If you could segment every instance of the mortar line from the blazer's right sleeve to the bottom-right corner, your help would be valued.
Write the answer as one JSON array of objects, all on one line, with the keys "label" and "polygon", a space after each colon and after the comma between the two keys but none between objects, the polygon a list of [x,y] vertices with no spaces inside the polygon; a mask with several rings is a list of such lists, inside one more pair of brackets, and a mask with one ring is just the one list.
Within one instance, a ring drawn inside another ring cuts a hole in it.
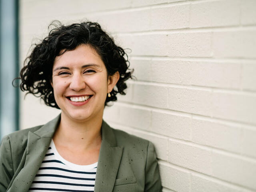
[{"label": "mortar line from the blazer's right sleeve to the bottom-right corner", "polygon": [[176,165],[176,164],[172,164],[170,162],[165,162],[163,160],[158,160],[158,163],[162,164],[164,166],[168,166],[170,168],[178,169],[180,171],[190,172],[190,173],[192,173],[196,176],[202,177],[202,178],[207,179],[207,180],[211,180],[213,182],[216,182],[218,184],[222,184],[224,186],[229,186],[231,188],[236,188],[238,190],[243,190],[243,191],[244,191],[244,189],[246,189],[246,190],[248,190],[247,192],[255,192],[253,189],[250,189],[246,186],[242,186],[242,185],[235,184],[235,183],[232,183],[232,182],[229,182],[229,181],[226,181],[226,180],[222,180],[220,178],[210,176],[210,175],[207,175],[207,174],[204,174],[204,173],[200,173],[200,172],[197,172],[197,171],[192,170],[192,169],[188,169],[188,168]]}]

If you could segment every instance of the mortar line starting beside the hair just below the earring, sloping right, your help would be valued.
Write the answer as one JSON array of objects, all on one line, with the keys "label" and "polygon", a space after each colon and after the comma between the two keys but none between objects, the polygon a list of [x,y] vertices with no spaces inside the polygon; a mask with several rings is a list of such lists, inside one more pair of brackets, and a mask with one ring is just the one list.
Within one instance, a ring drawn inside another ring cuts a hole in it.
[{"label": "mortar line starting beside the hair just below the earring, sloping right", "polygon": [[[174,116],[182,116],[182,117],[188,117],[188,118],[193,118],[196,120],[205,120],[208,122],[216,122],[219,124],[223,124],[226,126],[235,126],[235,127],[242,127],[246,128],[248,130],[256,130],[256,125],[244,123],[244,122],[236,122],[234,120],[224,120],[220,118],[215,118],[215,117],[210,117],[210,116],[203,116],[200,114],[193,114],[193,113],[188,113],[188,112],[182,112],[182,111],[176,111],[176,110],[170,110],[170,109],[163,109],[163,108],[157,108],[157,107],[152,107],[152,106],[146,106],[142,104],[137,104],[137,103],[130,103],[130,102],[124,102],[124,101],[118,101],[116,103],[118,106],[132,106],[134,108],[140,107],[140,109],[145,108],[148,110],[151,110],[152,112],[161,112],[161,113],[166,113]],[[120,105],[122,104],[122,105]],[[190,117],[191,116],[191,117]]]}]

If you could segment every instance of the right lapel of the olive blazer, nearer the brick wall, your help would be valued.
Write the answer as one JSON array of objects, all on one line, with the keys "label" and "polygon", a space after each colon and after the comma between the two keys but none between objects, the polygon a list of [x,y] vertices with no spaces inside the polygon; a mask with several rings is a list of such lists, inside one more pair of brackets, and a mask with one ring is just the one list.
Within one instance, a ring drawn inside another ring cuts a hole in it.
[{"label": "right lapel of the olive blazer, nearer the brick wall", "polygon": [[102,122],[102,144],[96,172],[94,192],[112,192],[123,147],[116,145],[112,128]]}]

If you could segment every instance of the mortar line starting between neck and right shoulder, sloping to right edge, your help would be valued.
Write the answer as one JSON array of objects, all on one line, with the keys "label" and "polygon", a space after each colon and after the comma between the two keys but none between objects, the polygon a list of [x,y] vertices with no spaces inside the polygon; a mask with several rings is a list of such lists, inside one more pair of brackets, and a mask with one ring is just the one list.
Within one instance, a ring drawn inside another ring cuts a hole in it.
[{"label": "mortar line starting between neck and right shoulder, sloping to right edge", "polygon": [[239,153],[236,153],[236,152],[230,152],[230,151],[227,151],[227,150],[224,150],[224,149],[220,149],[220,148],[215,148],[213,146],[207,146],[207,145],[203,145],[203,144],[198,144],[198,143],[195,143],[195,142],[192,142],[192,141],[187,141],[187,140],[182,140],[182,139],[178,139],[178,138],[174,138],[174,137],[170,137],[170,136],[164,136],[162,134],[157,134],[155,132],[152,132],[151,130],[141,130],[141,129],[138,129],[138,128],[134,128],[132,126],[125,126],[125,125],[122,125],[118,122],[113,122],[111,120],[109,120],[114,126],[116,126],[116,128],[124,128],[126,130],[131,130],[131,131],[135,131],[137,133],[141,133],[141,134],[148,134],[150,136],[155,136],[155,137],[158,137],[161,136],[165,139],[168,139],[169,141],[174,141],[174,142],[179,142],[181,144],[186,144],[186,145],[189,145],[189,146],[192,146],[192,147],[196,147],[196,148],[200,148],[200,149],[203,149],[203,150],[208,150],[208,151],[212,151],[212,152],[217,152],[219,154],[224,154],[228,157],[233,157],[233,158],[236,158],[236,159],[240,159],[240,160],[244,160],[246,162],[252,162],[252,163],[255,163],[256,164],[256,158],[254,157],[251,157],[251,156],[247,156],[245,154],[239,154]]}]

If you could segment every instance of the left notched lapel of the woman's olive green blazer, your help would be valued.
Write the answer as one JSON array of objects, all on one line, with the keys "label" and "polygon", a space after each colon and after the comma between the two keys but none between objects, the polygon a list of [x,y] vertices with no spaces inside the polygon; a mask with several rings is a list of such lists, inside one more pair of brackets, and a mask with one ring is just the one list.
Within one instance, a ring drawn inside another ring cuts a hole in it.
[{"label": "left notched lapel of the woman's olive green blazer", "polygon": [[60,115],[37,131],[28,132],[24,167],[17,174],[7,192],[28,191],[48,150],[59,120]]}]

